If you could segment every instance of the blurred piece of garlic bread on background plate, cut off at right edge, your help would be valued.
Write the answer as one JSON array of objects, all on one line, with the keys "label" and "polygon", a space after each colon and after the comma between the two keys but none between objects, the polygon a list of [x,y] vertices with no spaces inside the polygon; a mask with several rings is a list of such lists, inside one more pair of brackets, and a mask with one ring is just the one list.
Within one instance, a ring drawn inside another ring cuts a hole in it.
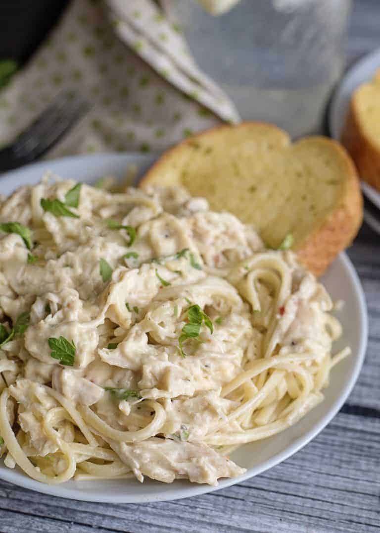
[{"label": "blurred piece of garlic bread on background plate, cut off at right edge", "polygon": [[380,191],[380,69],[354,91],[342,132],[359,176]]}]

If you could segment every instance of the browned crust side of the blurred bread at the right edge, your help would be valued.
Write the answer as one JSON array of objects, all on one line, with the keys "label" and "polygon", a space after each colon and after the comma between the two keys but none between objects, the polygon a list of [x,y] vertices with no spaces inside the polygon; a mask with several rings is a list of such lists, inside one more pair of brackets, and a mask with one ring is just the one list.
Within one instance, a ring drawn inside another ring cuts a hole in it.
[{"label": "browned crust side of the blurred bread at the right edge", "polygon": [[351,99],[341,141],[354,160],[361,179],[380,191],[380,150],[363,131],[355,95]]}]

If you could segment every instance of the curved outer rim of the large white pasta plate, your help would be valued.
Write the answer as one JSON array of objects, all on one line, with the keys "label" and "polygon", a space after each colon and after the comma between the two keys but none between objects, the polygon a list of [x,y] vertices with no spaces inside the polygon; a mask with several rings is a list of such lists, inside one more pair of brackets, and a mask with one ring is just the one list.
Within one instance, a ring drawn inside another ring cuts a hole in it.
[{"label": "curved outer rim of the large white pasta plate", "polygon": [[[380,52],[380,50],[379,50]],[[113,152],[104,152],[102,154],[90,154],[90,155],[79,155],[79,156],[68,156],[63,157],[59,159],[51,159],[51,160],[44,160],[42,162],[38,163],[31,163],[29,165],[25,165],[21,168],[14,169],[10,172],[6,172],[4,174],[0,175],[0,183],[1,181],[4,182],[4,180],[15,180],[18,175],[22,175],[23,173],[28,173],[30,171],[38,171],[39,169],[41,171],[45,171],[49,165],[70,165],[73,163],[80,164],[81,161],[84,163],[88,161],[89,159],[92,159],[95,161],[96,159],[102,160],[103,162],[106,160],[119,160],[120,163],[123,162],[126,165],[128,165],[129,159],[136,159],[141,160],[143,164],[152,164],[153,161],[156,159],[156,157],[159,156],[159,153],[154,154],[140,154],[138,152],[122,152],[119,154],[115,154]],[[41,174],[40,174],[41,175]],[[39,177],[40,177],[39,175]],[[18,187],[20,184],[15,184],[15,187]],[[91,492],[87,492],[86,489],[80,489],[80,499],[86,502],[97,502],[97,503],[149,503],[149,502],[163,502],[168,500],[176,500],[181,498],[188,498],[193,496],[199,496],[206,494],[208,492],[213,492],[215,490],[224,489],[227,487],[230,487],[234,484],[241,483],[242,481],[246,479],[250,479],[254,477],[255,475],[258,475],[266,470],[269,470],[271,467],[276,466],[277,464],[285,461],[288,457],[291,457],[293,454],[295,454],[297,451],[299,451],[301,448],[303,448],[305,445],[307,445],[313,438],[315,438],[318,433],[320,433],[326,425],[331,422],[331,420],[335,417],[335,415],[338,413],[338,411],[343,406],[344,402],[348,398],[349,394],[351,393],[354,384],[356,383],[361,367],[363,365],[365,354],[366,354],[366,348],[367,348],[367,340],[368,340],[368,314],[367,314],[367,304],[366,304],[366,298],[364,294],[364,290],[362,289],[361,282],[358,276],[358,273],[354,269],[354,266],[349,259],[348,255],[345,252],[341,252],[335,261],[339,261],[342,264],[342,268],[348,273],[352,287],[353,287],[353,293],[356,297],[356,300],[358,302],[358,317],[359,317],[359,324],[358,324],[358,331],[359,331],[359,346],[358,346],[358,352],[354,354],[355,356],[355,364],[351,373],[351,376],[349,378],[349,381],[346,383],[345,387],[343,388],[341,394],[339,397],[337,397],[327,413],[320,419],[320,421],[313,425],[313,427],[307,432],[301,435],[301,437],[298,437],[295,439],[290,445],[288,445],[284,450],[280,451],[276,455],[270,457],[266,461],[262,462],[261,464],[252,467],[250,469],[247,469],[247,471],[242,474],[241,476],[237,478],[228,478],[228,479],[222,479],[218,486],[209,486],[205,484],[189,484],[186,486],[184,490],[181,490],[181,488],[173,488],[172,491],[167,491],[161,493],[158,491],[157,496],[147,495],[147,496],[138,496],[134,497],[134,495],[131,494],[121,494],[115,496],[107,495],[106,494],[106,488],[104,489],[104,492],[102,494],[93,494]],[[16,474],[19,474],[19,472],[15,472],[11,469],[0,469],[0,479],[13,483],[16,486],[35,490],[36,492],[40,492],[42,494],[47,494],[50,496],[58,496],[62,498],[68,498],[68,499],[78,499],[78,490],[73,490],[71,488],[65,488],[64,484],[57,484],[57,485],[46,485],[44,483],[40,483],[39,481],[35,481],[31,478],[28,478],[26,474],[22,474],[21,479],[14,480],[14,477]],[[63,493],[63,494],[62,494]]]}]

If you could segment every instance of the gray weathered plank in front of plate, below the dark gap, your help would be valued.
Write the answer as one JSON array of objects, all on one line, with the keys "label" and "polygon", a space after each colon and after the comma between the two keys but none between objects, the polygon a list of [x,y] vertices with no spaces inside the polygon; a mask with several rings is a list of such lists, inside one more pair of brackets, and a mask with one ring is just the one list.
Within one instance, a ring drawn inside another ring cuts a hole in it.
[{"label": "gray weathered plank in front of plate, below the dark gap", "polygon": [[[9,483],[0,488],[0,524],[8,513],[62,523],[73,531],[360,532],[380,529],[380,419],[339,414],[307,447],[274,469],[228,489],[177,502],[112,505],[63,500]],[[282,525],[281,525],[282,524]],[[1,526],[0,526],[1,527]],[[282,527],[283,529],[280,529]],[[24,529],[22,529],[24,530]],[[38,529],[39,530],[39,529]],[[9,529],[13,532],[16,529]]]}]

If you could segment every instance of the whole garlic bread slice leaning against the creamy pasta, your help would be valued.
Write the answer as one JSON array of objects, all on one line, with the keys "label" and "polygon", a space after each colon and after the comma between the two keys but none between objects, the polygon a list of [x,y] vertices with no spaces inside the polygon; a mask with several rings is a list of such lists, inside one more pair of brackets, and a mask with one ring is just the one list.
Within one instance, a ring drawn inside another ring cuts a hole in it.
[{"label": "whole garlic bread slice leaning against the creamy pasta", "polygon": [[183,185],[214,211],[254,224],[265,243],[288,233],[299,260],[316,275],[356,236],[362,197],[344,148],[313,136],[292,144],[277,126],[245,122],[194,135],[168,150],[141,181]]}]

